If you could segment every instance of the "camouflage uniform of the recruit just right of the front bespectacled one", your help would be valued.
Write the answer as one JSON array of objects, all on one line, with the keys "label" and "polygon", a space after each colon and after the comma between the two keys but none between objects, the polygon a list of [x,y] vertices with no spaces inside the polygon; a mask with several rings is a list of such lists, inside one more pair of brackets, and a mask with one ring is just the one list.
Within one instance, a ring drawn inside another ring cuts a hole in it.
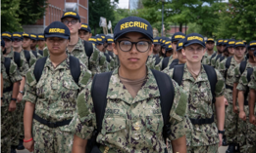
[{"label": "camouflage uniform of the recruit just right of the front bespectacled one", "polygon": [[[215,71],[217,74],[215,95],[216,97],[224,96],[224,78],[218,70]],[[172,78],[173,73],[174,68],[167,72]],[[210,82],[203,65],[200,74],[196,80],[194,80],[193,76],[188,72],[185,63],[180,87],[188,94],[188,118],[205,119],[212,117],[214,114],[214,104],[212,103],[213,96]],[[189,146],[212,145],[219,142],[218,128],[215,122],[212,124],[193,125],[193,131],[190,131],[190,133],[191,134],[186,134],[186,141]]]}]

